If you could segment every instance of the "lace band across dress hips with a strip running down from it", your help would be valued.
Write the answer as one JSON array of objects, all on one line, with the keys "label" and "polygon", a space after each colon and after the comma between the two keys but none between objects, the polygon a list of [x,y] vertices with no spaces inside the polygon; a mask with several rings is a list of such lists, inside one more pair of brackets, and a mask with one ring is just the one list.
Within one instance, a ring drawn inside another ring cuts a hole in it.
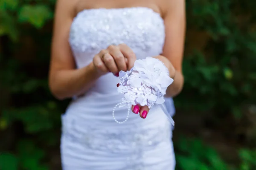
[{"label": "lace band across dress hips with a strip running down from it", "polygon": [[[62,134],[67,142],[79,143],[82,146],[81,150],[121,154],[126,157],[124,170],[144,170],[144,153],[157,148],[160,144],[169,144],[172,138],[167,122],[154,128],[141,128],[140,125],[134,125],[130,129],[93,126],[83,126],[81,129],[81,123],[76,119],[69,118],[67,122],[67,119],[62,118],[62,121]],[[73,150],[71,146],[65,149]]]}]

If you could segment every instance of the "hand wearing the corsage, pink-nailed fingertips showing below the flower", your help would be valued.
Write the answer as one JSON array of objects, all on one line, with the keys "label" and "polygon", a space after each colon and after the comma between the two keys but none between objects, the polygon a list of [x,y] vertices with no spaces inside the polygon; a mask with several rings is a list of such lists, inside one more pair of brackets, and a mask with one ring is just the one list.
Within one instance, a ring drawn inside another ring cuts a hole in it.
[{"label": "hand wearing the corsage, pink-nailed fingertips showing below the flower", "polygon": [[[174,79],[176,71],[175,71],[175,68],[173,67],[172,63],[169,61],[169,59],[167,59],[166,57],[163,57],[161,55],[156,56],[154,58],[159,59],[161,62],[163,62],[163,64],[169,70],[170,77],[172,79]],[[116,86],[119,87],[119,84],[117,84]],[[148,112],[150,109],[148,108],[148,106],[132,105],[131,110],[135,114],[140,113],[140,117],[145,119],[146,116],[148,115]]]}]

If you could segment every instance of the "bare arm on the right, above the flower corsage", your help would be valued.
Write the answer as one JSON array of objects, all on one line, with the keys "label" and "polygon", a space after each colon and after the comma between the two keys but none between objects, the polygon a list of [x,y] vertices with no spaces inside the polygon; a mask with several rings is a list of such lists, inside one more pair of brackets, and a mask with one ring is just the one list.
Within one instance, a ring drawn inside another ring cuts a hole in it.
[{"label": "bare arm on the right, above the flower corsage", "polygon": [[183,88],[182,61],[186,29],[185,0],[165,0],[166,14],[164,23],[166,27],[166,40],[163,47],[163,56],[160,59],[169,68],[174,82],[166,91],[166,96],[176,96]]}]

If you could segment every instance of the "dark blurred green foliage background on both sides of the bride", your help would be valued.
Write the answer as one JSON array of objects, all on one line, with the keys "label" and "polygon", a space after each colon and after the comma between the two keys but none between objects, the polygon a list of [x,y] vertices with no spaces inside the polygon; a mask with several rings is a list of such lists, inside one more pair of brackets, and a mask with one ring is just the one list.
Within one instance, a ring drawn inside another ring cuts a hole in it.
[{"label": "dark blurred green foliage background on both sides of the bride", "polygon": [[[0,0],[0,170],[59,170],[49,93],[55,0]],[[177,170],[256,170],[256,1],[187,0]]]}]

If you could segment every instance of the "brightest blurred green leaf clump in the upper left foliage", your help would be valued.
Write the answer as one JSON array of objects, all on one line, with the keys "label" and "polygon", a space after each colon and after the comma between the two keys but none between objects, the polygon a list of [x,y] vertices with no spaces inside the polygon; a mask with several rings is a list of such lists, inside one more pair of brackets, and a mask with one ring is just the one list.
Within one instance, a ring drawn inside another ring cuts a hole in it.
[{"label": "brightest blurred green leaf clump in the upper left foliage", "polygon": [[52,11],[44,5],[24,5],[20,8],[18,20],[28,22],[36,28],[42,28],[44,23],[52,19]]}]

